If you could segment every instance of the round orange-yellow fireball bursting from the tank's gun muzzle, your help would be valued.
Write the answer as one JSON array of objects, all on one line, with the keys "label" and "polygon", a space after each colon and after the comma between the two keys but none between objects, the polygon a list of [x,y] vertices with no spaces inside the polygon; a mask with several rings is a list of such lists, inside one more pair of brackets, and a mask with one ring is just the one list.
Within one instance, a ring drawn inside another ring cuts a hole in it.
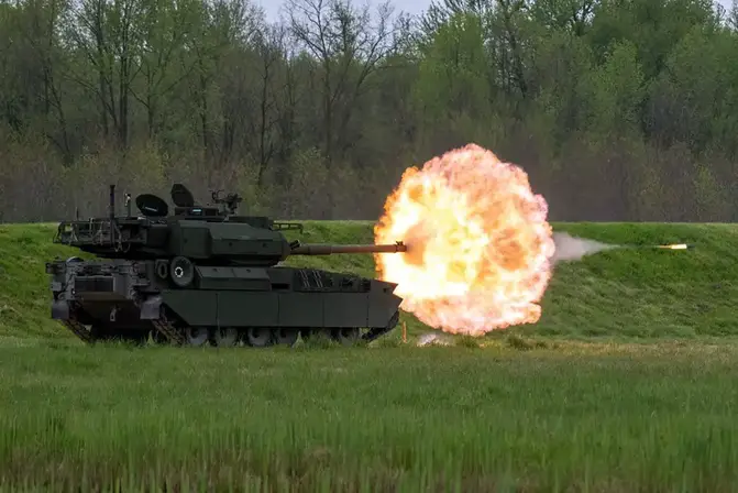
[{"label": "round orange-yellow fireball bursting from the tank's gun muzzle", "polygon": [[554,252],[548,205],[528,175],[469,144],[408,168],[374,228],[378,277],[397,283],[401,308],[452,333],[481,336],[538,321]]}]

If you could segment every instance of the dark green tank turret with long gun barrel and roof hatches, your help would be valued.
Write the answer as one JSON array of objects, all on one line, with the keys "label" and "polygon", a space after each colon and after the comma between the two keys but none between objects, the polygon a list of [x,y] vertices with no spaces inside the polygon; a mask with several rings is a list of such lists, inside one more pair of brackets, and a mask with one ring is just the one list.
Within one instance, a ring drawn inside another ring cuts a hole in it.
[{"label": "dark green tank turret with long gun barrel and roof hatches", "polygon": [[333,253],[401,252],[394,245],[301,245],[288,242],[282,231],[302,230],[302,224],[277,222],[263,216],[238,216],[236,194],[198,206],[181,184],[172,187],[174,215],[159,197],[136,197],[140,216],[114,215],[114,186],[111,186],[111,213],[107,218],[63,221],[54,242],[106,259],[154,260],[187,258],[199,265],[276,265],[289,255]]}]

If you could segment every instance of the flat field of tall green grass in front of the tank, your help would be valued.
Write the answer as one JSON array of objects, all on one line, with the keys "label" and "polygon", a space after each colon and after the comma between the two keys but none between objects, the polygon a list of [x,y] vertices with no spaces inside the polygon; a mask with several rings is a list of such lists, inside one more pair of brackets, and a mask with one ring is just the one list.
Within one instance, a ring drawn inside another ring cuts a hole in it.
[{"label": "flat field of tall green grass in front of the tank", "polygon": [[5,491],[728,491],[738,346],[0,349]]}]

